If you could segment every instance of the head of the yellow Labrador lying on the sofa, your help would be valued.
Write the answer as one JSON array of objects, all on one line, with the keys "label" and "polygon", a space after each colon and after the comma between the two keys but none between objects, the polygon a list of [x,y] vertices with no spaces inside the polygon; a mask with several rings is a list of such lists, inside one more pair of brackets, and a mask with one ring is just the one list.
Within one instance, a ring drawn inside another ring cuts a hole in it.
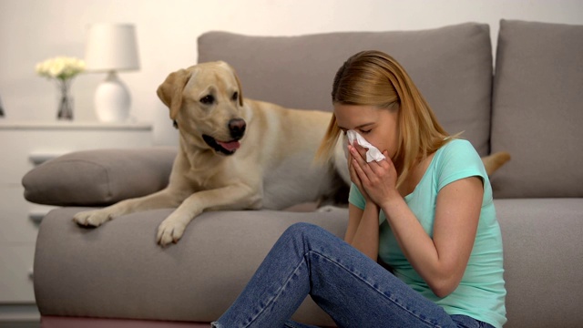
[{"label": "head of the yellow Labrador lying on the sofa", "polygon": [[170,73],[158,97],[189,143],[232,155],[247,123],[239,77],[225,62],[209,62]]}]

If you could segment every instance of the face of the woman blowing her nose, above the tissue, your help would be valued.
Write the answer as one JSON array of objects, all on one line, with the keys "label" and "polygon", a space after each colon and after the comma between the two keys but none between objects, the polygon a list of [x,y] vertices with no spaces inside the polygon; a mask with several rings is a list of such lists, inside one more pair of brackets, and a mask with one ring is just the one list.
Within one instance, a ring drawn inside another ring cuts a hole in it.
[{"label": "face of the woman blowing her nose, above the tissue", "polygon": [[335,104],[334,115],[338,128],[344,133],[355,130],[377,149],[386,150],[389,157],[394,159],[399,136],[398,110]]}]

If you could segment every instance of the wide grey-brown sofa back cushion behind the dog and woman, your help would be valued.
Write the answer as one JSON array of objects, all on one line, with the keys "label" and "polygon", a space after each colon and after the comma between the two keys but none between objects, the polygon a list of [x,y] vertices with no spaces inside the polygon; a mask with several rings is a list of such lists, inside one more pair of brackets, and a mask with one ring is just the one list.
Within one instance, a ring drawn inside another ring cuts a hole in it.
[{"label": "wide grey-brown sofa back cushion behind the dog and woman", "polygon": [[224,60],[235,68],[245,97],[321,110],[332,110],[332,79],[349,56],[384,51],[404,66],[449,133],[465,130],[463,137],[488,153],[493,69],[487,25],[307,36],[209,32],[198,46],[199,62]]}]

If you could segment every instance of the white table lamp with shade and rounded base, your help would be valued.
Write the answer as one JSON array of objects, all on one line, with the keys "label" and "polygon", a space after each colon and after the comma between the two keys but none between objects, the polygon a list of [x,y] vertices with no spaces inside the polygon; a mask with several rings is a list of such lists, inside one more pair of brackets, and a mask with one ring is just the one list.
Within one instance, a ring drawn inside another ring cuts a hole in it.
[{"label": "white table lamp with shade and rounded base", "polygon": [[118,71],[139,69],[136,29],[128,24],[100,23],[89,26],[85,63],[88,72],[106,72],[97,86],[95,110],[102,122],[124,122],[129,116],[131,97]]}]

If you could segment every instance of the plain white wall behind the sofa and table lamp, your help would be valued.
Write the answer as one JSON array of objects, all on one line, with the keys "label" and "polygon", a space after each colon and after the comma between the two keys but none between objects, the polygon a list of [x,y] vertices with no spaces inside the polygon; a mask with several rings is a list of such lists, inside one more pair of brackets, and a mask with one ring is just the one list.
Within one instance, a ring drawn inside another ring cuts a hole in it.
[{"label": "plain white wall behind the sofa and table lamp", "polygon": [[[120,75],[132,93],[132,117],[155,122],[158,144],[175,144],[155,91],[169,72],[196,63],[196,40],[206,31],[292,36],[475,21],[490,25],[496,45],[500,18],[583,25],[583,0],[0,0],[0,98],[5,120],[54,120],[56,87],[36,76],[36,63],[82,58],[89,24],[132,23],[141,69]],[[93,92],[103,78],[76,78],[77,120],[96,120]]]}]

